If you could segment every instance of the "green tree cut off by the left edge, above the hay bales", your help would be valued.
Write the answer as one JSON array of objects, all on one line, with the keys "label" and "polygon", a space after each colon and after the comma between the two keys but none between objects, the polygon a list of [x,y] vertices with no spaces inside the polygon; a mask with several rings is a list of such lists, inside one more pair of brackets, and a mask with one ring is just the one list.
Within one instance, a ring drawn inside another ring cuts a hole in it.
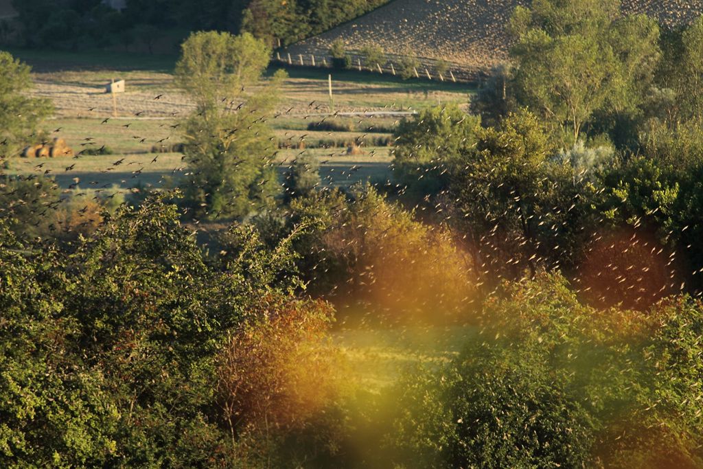
[{"label": "green tree cut off by the left edge, above the hay bales", "polygon": [[0,51],[0,159],[41,139],[37,127],[53,108],[44,98],[27,96],[31,88],[30,67]]}]

